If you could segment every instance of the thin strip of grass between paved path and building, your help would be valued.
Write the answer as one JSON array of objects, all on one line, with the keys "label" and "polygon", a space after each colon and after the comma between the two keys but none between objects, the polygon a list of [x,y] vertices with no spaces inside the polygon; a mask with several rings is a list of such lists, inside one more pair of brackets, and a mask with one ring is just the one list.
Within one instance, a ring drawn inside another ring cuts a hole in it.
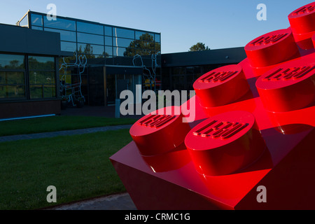
[{"label": "thin strip of grass between paved path and building", "polygon": [[7,120],[0,122],[0,136],[56,132],[112,125],[131,125],[136,121],[137,120],[133,118],[104,118],[92,116],[52,116],[25,120]]}]

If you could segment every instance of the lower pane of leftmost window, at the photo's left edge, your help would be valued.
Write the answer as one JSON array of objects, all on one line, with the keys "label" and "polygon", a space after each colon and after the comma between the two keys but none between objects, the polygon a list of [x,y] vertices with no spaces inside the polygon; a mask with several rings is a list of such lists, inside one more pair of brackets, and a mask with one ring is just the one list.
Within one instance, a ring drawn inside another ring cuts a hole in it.
[{"label": "lower pane of leftmost window, at the photo's left edge", "polygon": [[25,97],[25,73],[0,71],[0,99]]}]

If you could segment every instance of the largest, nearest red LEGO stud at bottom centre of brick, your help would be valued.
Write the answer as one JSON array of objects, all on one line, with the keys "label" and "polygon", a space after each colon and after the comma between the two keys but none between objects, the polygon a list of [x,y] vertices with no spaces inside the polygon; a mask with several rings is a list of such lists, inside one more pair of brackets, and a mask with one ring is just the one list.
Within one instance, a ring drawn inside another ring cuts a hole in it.
[{"label": "largest, nearest red LEGO stud at bottom centre of brick", "polygon": [[265,141],[247,111],[230,111],[204,120],[187,134],[186,147],[202,175],[232,174],[255,162]]}]

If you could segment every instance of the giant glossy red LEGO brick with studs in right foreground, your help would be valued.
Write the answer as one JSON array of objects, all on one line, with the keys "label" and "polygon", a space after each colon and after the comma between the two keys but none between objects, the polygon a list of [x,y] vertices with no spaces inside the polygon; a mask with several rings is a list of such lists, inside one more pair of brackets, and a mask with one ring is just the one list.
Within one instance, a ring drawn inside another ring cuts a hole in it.
[{"label": "giant glossy red LEGO brick with studs in right foreground", "polygon": [[[312,10],[306,6],[297,13],[314,16]],[[211,79],[221,78],[216,85],[224,84],[225,68],[202,76],[208,83],[196,80],[210,93],[196,91],[186,102],[195,103],[196,119],[185,130],[185,139],[181,134],[180,144],[144,155],[132,141],[111,156],[138,209],[315,209],[315,50],[299,47],[295,54],[297,42],[293,44],[290,31],[250,42],[248,49],[258,52],[250,52],[251,58],[236,66],[248,83],[248,91],[239,97],[204,105],[204,97],[215,97]],[[274,37],[281,34],[285,35]],[[277,52],[269,59],[265,48],[290,54]],[[214,73],[218,75],[211,78]],[[150,143],[160,146],[164,138]],[[265,202],[258,200],[261,186],[266,189]]]}]

